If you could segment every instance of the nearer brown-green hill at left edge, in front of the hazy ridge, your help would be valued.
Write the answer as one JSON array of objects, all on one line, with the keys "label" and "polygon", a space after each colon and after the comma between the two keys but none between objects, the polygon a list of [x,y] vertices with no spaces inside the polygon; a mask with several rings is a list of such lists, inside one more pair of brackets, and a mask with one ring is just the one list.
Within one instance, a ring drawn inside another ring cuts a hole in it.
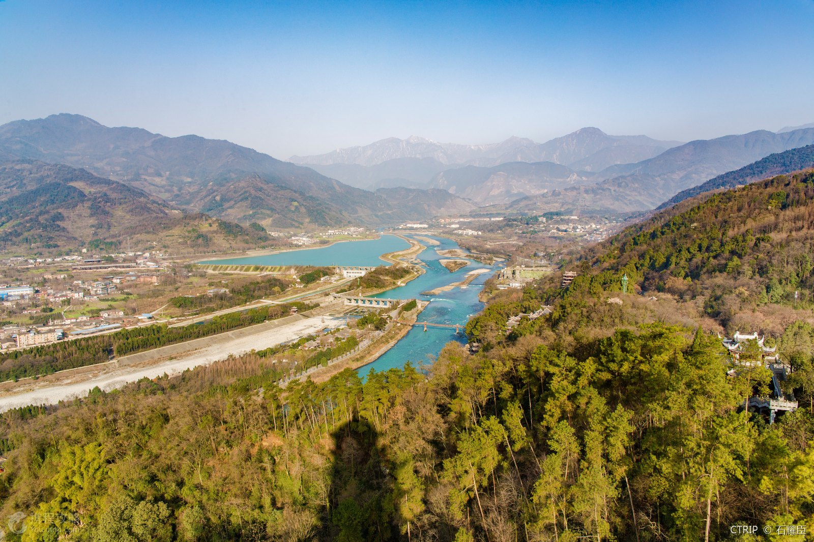
[{"label": "nearer brown-green hill at left edge, in front of the hazy ridge", "polygon": [[186,215],[143,190],[37,160],[0,164],[0,248],[161,247],[174,253],[254,247],[265,229]]}]

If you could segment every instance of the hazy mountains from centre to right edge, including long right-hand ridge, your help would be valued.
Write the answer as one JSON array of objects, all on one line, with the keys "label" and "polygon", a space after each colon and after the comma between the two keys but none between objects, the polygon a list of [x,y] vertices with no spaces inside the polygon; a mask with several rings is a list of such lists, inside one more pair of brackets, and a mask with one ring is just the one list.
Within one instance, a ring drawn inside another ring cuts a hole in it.
[{"label": "hazy mountains from centre to right edge, including long right-hand ridge", "polygon": [[549,142],[491,145],[388,138],[316,156],[293,156],[352,186],[432,187],[495,210],[640,212],[721,173],[814,142],[814,128],[758,130],[681,144],[584,128]]}]

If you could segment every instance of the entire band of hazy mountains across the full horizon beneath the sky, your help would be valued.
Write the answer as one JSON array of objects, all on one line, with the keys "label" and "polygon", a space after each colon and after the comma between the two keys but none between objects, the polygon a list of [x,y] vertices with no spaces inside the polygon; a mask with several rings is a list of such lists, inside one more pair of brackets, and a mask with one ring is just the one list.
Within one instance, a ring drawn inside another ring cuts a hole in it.
[{"label": "entire band of hazy mountains across the full horizon beneath the sky", "polygon": [[306,167],[226,141],[109,128],[78,115],[0,126],[0,162],[39,160],[85,168],[138,190],[142,196],[133,198],[148,198],[145,204],[274,229],[393,225],[475,208],[648,211],[723,173],[812,144],[814,128],[758,130],[685,144],[585,128],[545,143],[510,138],[466,146],[390,138],[298,158],[339,160]]}]

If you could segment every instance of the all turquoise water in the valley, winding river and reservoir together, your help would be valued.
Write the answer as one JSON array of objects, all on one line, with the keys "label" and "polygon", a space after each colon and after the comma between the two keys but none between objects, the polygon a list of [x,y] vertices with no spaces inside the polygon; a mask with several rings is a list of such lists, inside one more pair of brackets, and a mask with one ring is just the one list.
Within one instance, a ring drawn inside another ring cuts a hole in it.
[{"label": "all turquoise water in the valley, winding river and reservoir together", "polygon": [[[412,238],[410,235],[405,237]],[[455,273],[440,264],[444,256],[439,256],[437,250],[450,248],[460,248],[452,239],[444,237],[432,237],[438,246],[427,246],[419,255],[418,259],[423,262],[422,273],[418,278],[399,286],[392,290],[383,291],[373,297],[387,297],[392,299],[422,299],[429,300],[430,304],[424,308],[419,316],[420,321],[430,321],[438,324],[466,324],[470,317],[479,313],[484,308],[484,304],[478,299],[478,294],[483,288],[487,278],[492,276],[492,271],[497,268],[490,265],[481,264],[475,260]],[[421,239],[416,239],[419,243],[427,245]],[[395,235],[382,235],[374,241],[348,241],[335,243],[330,247],[316,249],[278,252],[268,256],[249,256],[245,258],[234,258],[231,260],[213,260],[201,263],[212,264],[246,264],[246,265],[381,265],[385,264],[379,258],[387,252],[400,251],[409,245],[404,239]],[[422,295],[424,291],[434,290],[440,286],[446,286],[453,282],[460,282],[466,278],[466,273],[475,269],[489,269],[490,273],[479,274],[473,282],[467,286],[453,288],[439,295]],[[359,369],[361,374],[367,374],[370,369],[376,371],[386,371],[394,367],[400,368],[407,361],[414,365],[429,363],[435,359],[444,344],[450,341],[465,343],[463,334],[455,334],[455,330],[448,328],[427,327],[424,331],[422,327],[414,327],[395,346],[388,350],[378,360],[365,365]]]}]

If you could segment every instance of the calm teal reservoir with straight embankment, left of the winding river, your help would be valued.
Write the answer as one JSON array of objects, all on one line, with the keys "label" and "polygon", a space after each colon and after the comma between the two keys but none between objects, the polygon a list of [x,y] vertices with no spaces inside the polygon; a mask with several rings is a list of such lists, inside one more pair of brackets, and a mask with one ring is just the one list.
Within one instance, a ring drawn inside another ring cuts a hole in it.
[{"label": "calm teal reservoir with straight embankment, left of the winding river", "polygon": [[378,239],[344,241],[330,247],[309,248],[298,251],[282,251],[265,256],[246,256],[229,260],[208,260],[200,264],[222,265],[389,265],[379,256],[388,252],[403,251],[409,247],[404,239],[395,235],[382,235]]}]

